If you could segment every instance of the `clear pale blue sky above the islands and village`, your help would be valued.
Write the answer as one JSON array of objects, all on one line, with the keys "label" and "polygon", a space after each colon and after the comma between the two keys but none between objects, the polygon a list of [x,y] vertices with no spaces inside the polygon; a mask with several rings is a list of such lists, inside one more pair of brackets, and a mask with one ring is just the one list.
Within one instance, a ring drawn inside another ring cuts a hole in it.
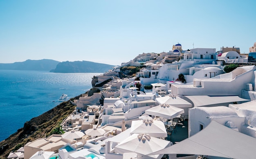
[{"label": "clear pale blue sky above the islands and village", "polygon": [[[255,0],[0,0],[0,63],[121,65],[145,52],[256,42]],[[194,46],[193,46],[194,44]]]}]

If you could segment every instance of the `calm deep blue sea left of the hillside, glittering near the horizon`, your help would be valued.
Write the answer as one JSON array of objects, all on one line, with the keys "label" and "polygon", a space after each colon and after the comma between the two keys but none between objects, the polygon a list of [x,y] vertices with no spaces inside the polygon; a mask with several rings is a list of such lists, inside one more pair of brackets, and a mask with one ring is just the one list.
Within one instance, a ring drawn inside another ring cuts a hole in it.
[{"label": "calm deep blue sea left of the hillside, glittering near the horizon", "polygon": [[60,104],[62,93],[69,99],[88,91],[99,74],[0,70],[0,141]]}]

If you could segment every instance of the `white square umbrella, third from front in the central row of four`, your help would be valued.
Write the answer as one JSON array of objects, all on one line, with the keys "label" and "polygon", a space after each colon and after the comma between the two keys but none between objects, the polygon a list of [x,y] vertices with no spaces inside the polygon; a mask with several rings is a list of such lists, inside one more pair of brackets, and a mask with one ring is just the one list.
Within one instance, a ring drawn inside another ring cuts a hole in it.
[{"label": "white square umbrella, third from front in the central row of four", "polygon": [[168,104],[162,104],[162,105],[157,105],[156,107],[147,109],[145,113],[167,118],[167,119],[173,119],[178,115],[184,113],[184,109],[173,107]]}]

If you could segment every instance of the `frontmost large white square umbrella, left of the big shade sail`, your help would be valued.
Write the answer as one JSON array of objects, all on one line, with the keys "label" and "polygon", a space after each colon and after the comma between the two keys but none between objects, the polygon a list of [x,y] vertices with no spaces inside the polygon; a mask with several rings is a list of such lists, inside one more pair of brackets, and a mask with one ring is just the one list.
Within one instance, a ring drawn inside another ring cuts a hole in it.
[{"label": "frontmost large white square umbrella, left of the big shade sail", "polygon": [[[170,142],[158,139],[156,137],[150,137],[144,133],[133,134],[125,139],[123,142],[115,146],[115,152],[124,154],[125,152],[135,152],[138,156],[147,155],[158,150],[162,150],[170,146]],[[157,158],[158,155],[150,156]]]}]

